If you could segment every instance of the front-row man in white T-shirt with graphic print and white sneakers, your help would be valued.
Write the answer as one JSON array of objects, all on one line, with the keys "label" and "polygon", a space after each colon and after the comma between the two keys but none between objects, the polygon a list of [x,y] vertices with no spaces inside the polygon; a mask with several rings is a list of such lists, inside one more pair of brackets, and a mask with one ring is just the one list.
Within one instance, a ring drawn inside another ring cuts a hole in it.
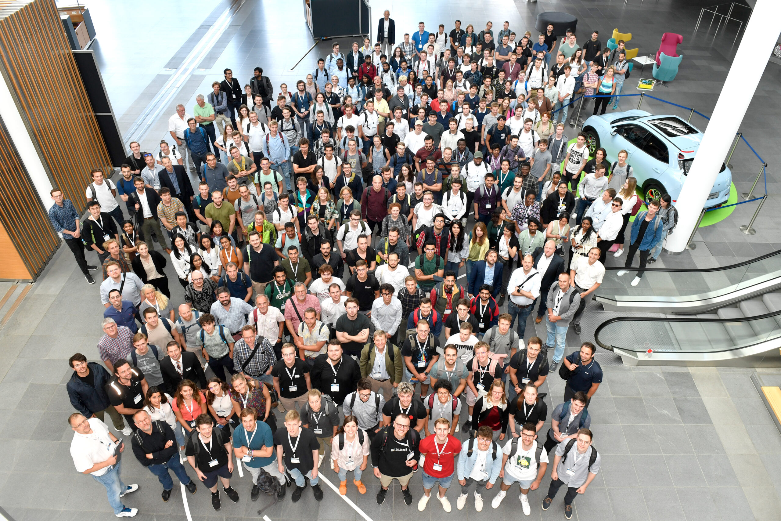
[{"label": "front-row man in white T-shirt with graphic print and white sneakers", "polygon": [[526,516],[531,514],[529,491],[540,487],[548,463],[547,451],[542,450],[542,444],[535,439],[536,437],[537,429],[534,424],[524,423],[520,439],[512,437],[505,444],[501,456],[505,476],[501,480],[501,490],[490,503],[492,508],[498,509],[512,484],[518,483],[523,513]]}]

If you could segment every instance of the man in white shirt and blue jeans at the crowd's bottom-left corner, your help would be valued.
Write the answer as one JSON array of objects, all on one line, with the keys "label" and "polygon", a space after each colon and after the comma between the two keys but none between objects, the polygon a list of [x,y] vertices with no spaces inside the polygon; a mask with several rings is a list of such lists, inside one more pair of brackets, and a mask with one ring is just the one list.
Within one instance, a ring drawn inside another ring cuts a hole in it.
[{"label": "man in white shirt and blue jeans at the crowd's bottom-left corner", "polygon": [[125,494],[138,490],[138,485],[126,485],[120,477],[119,452],[123,452],[123,444],[116,450],[119,440],[109,432],[109,427],[93,416],[84,418],[80,412],[74,412],[68,418],[73,429],[73,440],[70,441],[70,456],[76,470],[90,474],[95,481],[102,484],[109,495],[109,505],[117,517],[133,517],[138,509],[130,509],[123,504]]}]

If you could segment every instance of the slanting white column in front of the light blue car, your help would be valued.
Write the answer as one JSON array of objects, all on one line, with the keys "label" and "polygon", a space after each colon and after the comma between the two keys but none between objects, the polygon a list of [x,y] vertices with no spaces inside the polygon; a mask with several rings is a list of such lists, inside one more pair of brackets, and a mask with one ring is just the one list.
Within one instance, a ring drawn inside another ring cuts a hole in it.
[{"label": "slanting white column in front of the light blue car", "polygon": [[[744,35],[740,40],[733,64],[716,102],[708,128],[702,137],[697,156],[681,188],[676,209],[678,226],[668,237],[665,249],[671,253],[683,252],[700,212],[708,200],[711,187],[719,175],[729,148],[748,109],[754,91],[781,33],[781,2],[758,0],[751,12]],[[764,49],[764,50],[763,50]],[[742,93],[735,96],[736,92]]]}]

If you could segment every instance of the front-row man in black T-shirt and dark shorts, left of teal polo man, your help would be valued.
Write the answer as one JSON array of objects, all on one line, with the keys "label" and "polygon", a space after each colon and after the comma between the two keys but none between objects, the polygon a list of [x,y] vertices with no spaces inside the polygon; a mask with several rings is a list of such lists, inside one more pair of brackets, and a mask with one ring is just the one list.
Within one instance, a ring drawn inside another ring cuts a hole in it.
[{"label": "front-row man in black T-shirt and dark shorts, left of teal polo man", "polygon": [[222,506],[217,490],[218,477],[230,501],[239,501],[239,494],[230,486],[230,477],[234,475],[234,459],[230,452],[230,437],[222,429],[214,428],[212,416],[207,413],[198,416],[195,428],[187,438],[184,455],[198,474],[198,479],[212,492],[212,507],[215,510]]}]

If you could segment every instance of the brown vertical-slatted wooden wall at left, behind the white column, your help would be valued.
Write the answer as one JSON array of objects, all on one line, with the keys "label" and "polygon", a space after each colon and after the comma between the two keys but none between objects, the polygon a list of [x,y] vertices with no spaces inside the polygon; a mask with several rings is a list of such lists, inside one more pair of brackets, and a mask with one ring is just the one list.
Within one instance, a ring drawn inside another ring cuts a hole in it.
[{"label": "brown vertical-slatted wooden wall at left, behind the white column", "polygon": [[[0,66],[52,186],[84,211],[90,170],[111,172],[111,161],[54,0],[0,0]],[[5,127],[0,134],[0,219],[37,277],[60,242],[51,201],[41,204]]]}]

